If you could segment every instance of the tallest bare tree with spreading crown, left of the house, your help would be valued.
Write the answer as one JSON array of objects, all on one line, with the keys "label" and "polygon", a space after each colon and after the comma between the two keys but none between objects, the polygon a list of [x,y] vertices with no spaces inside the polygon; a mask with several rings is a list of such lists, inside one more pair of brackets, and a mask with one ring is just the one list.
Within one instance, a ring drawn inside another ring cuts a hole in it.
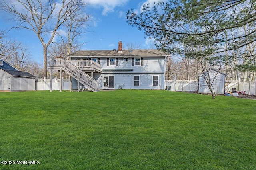
[{"label": "tallest bare tree with spreading crown, left of the house", "polygon": [[0,6],[18,21],[16,29],[34,31],[42,43],[44,52],[44,76],[47,77],[47,48],[52,43],[56,31],[80,12],[86,4],[84,0],[2,0]]}]

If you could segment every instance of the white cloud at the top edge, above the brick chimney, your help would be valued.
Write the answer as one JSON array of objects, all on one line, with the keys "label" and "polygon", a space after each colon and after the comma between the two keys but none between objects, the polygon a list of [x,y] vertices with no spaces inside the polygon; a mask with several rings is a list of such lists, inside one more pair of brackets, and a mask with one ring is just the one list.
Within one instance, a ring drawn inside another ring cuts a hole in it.
[{"label": "white cloud at the top edge, above the brick chimney", "polygon": [[93,6],[103,7],[102,15],[114,12],[116,6],[123,6],[129,0],[88,0]]}]

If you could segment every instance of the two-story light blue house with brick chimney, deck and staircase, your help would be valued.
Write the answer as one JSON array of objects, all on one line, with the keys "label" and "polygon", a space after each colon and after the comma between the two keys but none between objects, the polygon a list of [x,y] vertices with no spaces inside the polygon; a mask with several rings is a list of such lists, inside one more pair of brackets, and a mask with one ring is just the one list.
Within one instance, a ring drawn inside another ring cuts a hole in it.
[{"label": "two-story light blue house with brick chimney, deck and staircase", "polygon": [[50,59],[49,69],[51,75],[52,70],[67,72],[72,82],[70,90],[164,90],[167,55],[158,50],[122,50],[122,42],[119,41],[118,50],[76,51],[66,56],[67,60]]}]

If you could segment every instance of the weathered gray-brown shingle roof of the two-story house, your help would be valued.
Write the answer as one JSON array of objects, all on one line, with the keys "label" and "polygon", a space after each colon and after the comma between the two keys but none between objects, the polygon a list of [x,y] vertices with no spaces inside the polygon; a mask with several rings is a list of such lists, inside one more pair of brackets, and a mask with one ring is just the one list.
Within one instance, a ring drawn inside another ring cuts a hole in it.
[{"label": "weathered gray-brown shingle roof of the two-story house", "polygon": [[159,50],[122,50],[122,53],[113,50],[80,50],[66,57],[150,57],[150,56],[166,56],[168,54]]}]

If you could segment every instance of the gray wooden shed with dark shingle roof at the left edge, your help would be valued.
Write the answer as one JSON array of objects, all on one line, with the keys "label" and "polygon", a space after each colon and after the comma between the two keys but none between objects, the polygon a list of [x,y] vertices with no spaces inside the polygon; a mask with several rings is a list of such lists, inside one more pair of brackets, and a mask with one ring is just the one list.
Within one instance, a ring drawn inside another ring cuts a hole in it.
[{"label": "gray wooden shed with dark shingle roof at the left edge", "polygon": [[35,76],[19,71],[0,59],[0,91],[15,92],[35,90]]}]

